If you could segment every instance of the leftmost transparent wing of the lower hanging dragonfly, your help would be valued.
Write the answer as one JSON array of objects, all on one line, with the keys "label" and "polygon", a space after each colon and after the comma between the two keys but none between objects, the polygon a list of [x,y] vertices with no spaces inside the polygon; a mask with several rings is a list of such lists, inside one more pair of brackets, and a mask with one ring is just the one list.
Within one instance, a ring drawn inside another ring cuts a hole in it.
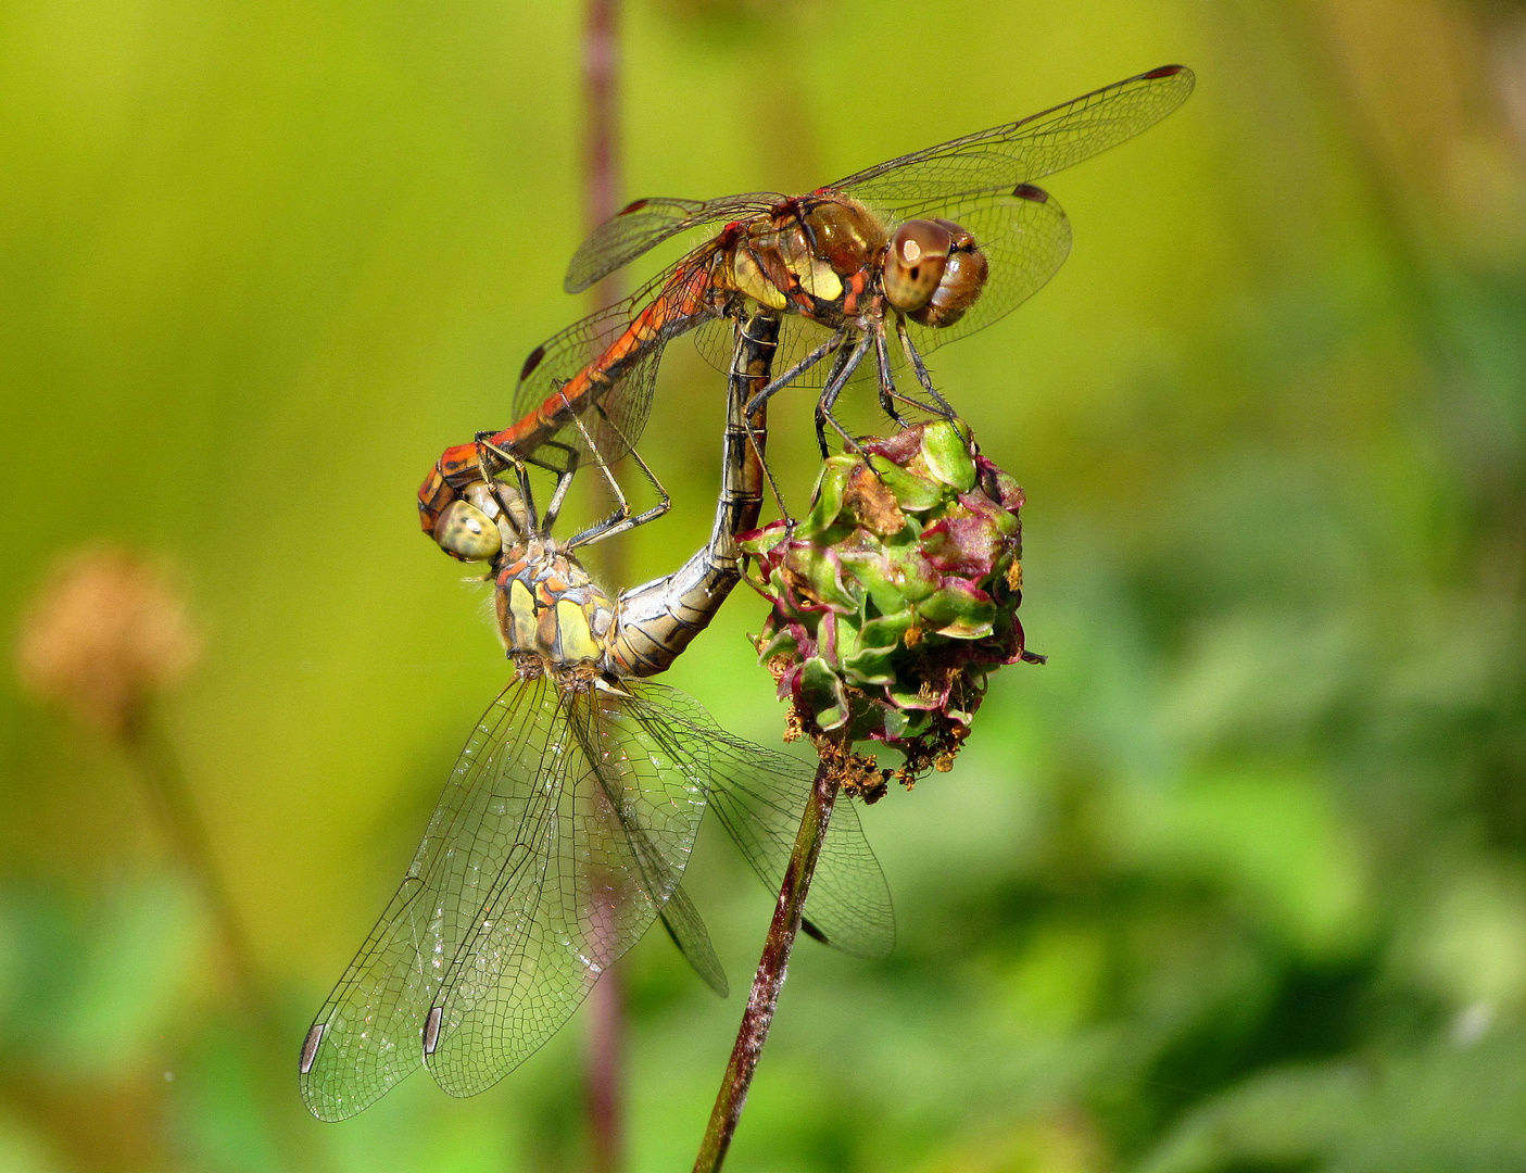
[{"label": "leftmost transparent wing of the lower hanging dragonfly", "polygon": [[484,877],[545,866],[533,854],[549,842],[537,828],[560,786],[542,770],[557,725],[543,679],[511,683],[482,715],[403,883],[308,1033],[301,1086],[313,1115],[353,1117],[424,1062],[424,1022],[478,921]]}]

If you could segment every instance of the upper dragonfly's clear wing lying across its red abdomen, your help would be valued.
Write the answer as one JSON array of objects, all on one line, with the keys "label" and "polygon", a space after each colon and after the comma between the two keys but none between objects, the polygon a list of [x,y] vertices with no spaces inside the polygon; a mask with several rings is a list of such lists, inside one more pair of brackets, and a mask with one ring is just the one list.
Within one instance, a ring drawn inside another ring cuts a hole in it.
[{"label": "upper dragonfly's clear wing lying across its red abdomen", "polygon": [[629,297],[536,346],[520,369],[514,418],[525,419],[552,397],[566,397],[577,406],[581,427],[568,423],[554,439],[584,455],[597,448],[606,461],[624,456],[641,438],[652,412],[662,348],[711,319],[708,311],[673,308],[682,273],[705,255],[708,249],[690,253],[674,270],[659,273]]}]

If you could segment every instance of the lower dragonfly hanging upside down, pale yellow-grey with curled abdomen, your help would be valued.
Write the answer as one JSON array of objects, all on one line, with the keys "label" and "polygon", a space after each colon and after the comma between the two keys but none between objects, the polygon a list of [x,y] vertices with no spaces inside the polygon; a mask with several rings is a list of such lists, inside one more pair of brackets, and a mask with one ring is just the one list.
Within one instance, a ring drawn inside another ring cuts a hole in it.
[{"label": "lower dragonfly hanging upside down, pale yellow-grey with curled abdomen", "polygon": [[[710,543],[682,569],[612,598],[551,535],[574,468],[537,513],[525,462],[452,508],[439,540],[490,566],[514,667],[461,750],[391,903],[319,1010],[299,1081],[320,1120],[372,1104],[417,1068],[453,1095],[496,1083],[565,1022],[598,976],[661,920],[719,993],[725,972],[682,888],[714,810],[777,889],[812,787],[786,754],[728,734],[667,668],[740,578],[734,535],[757,523],[761,453],[743,427],[777,319],[739,329],[722,493]],[[504,455],[505,459],[510,455]],[[838,804],[807,930],[853,953],[894,940],[885,877]]]}]

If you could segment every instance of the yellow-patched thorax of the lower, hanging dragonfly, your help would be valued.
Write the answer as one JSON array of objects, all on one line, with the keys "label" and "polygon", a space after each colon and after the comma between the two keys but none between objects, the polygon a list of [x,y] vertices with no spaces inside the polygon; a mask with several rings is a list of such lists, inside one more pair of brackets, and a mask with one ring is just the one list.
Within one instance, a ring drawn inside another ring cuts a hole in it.
[{"label": "yellow-patched thorax of the lower, hanging dragonfly", "polygon": [[560,671],[601,667],[615,628],[615,601],[555,543],[533,538],[499,560],[493,593],[508,654],[540,657]]}]

